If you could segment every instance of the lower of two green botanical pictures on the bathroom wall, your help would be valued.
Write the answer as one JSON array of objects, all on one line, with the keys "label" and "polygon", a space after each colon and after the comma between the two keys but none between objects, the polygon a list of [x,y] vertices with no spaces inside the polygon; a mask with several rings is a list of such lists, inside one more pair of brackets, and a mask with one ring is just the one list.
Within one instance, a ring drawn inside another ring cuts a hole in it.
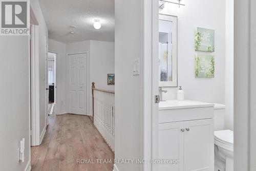
[{"label": "lower of two green botanical pictures on the bathroom wall", "polygon": [[214,78],[214,55],[196,55],[195,57],[195,76]]}]

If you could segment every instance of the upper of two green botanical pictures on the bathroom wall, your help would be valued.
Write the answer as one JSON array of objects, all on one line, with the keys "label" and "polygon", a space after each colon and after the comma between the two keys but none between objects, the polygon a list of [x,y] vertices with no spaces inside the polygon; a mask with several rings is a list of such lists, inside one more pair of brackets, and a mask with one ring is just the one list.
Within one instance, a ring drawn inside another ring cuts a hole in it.
[{"label": "upper of two green botanical pictures on the bathroom wall", "polygon": [[195,50],[214,52],[215,51],[215,31],[197,27],[195,31]]}]

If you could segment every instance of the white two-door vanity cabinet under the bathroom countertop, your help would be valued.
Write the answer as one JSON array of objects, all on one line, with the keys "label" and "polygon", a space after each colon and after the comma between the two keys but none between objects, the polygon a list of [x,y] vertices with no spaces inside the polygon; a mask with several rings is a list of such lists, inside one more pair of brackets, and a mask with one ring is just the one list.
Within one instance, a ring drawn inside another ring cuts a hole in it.
[{"label": "white two-door vanity cabinet under the bathroom countertop", "polygon": [[[159,105],[159,164],[161,171],[214,171],[213,104],[170,108]],[[187,108],[186,108],[187,107]]]}]

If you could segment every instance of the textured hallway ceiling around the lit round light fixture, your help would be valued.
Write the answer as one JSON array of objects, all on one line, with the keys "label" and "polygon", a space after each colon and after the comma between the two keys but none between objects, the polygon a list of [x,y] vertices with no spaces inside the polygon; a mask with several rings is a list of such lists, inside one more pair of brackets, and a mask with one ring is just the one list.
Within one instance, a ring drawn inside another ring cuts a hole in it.
[{"label": "textured hallway ceiling around the lit round light fixture", "polygon": [[[114,41],[114,0],[39,0],[49,38],[69,43],[83,40]],[[101,28],[94,29],[94,19]],[[75,25],[77,28],[70,28]],[[70,34],[69,32],[75,32]]]}]

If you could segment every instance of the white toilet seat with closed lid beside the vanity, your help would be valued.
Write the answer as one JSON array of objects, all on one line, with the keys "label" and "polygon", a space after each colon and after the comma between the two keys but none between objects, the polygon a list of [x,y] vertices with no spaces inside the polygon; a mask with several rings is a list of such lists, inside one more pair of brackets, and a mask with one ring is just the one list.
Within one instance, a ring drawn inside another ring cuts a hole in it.
[{"label": "white toilet seat with closed lid beside the vanity", "polygon": [[233,152],[233,131],[230,130],[221,130],[221,131],[215,131],[214,132],[214,143],[222,147],[224,149],[227,149],[228,151]]}]

